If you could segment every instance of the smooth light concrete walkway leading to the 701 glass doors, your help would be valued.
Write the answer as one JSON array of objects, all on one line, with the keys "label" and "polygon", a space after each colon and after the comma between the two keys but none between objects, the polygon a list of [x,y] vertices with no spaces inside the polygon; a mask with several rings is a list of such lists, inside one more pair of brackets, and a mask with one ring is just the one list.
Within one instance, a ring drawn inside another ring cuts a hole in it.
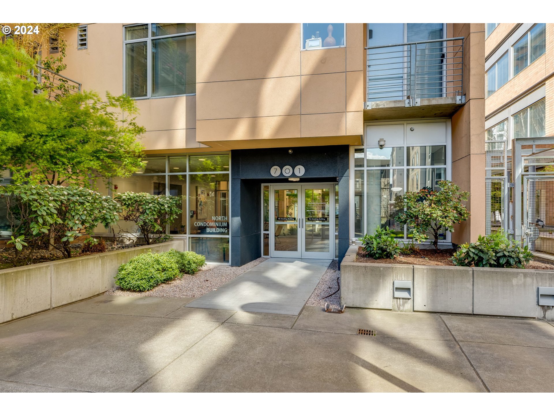
[{"label": "smooth light concrete walkway leading to the 701 glass doors", "polygon": [[330,263],[272,257],[187,306],[297,315]]}]

